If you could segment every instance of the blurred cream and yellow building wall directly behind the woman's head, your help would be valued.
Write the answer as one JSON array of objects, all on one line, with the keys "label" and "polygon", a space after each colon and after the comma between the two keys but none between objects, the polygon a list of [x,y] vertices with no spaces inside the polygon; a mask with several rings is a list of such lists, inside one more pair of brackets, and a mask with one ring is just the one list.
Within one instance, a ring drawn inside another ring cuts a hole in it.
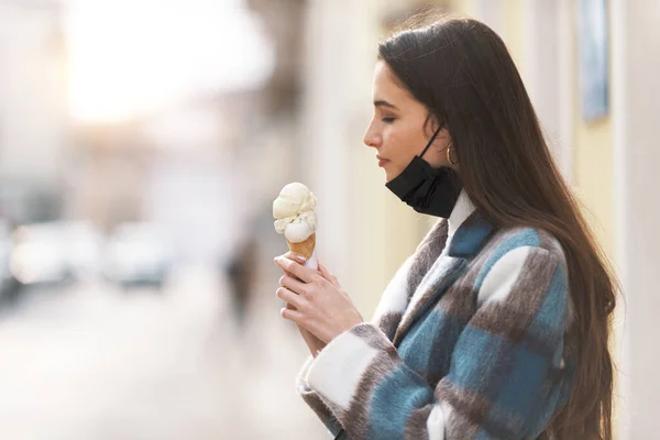
[{"label": "blurred cream and yellow building wall directly behind the woman's head", "polygon": [[[438,7],[490,24],[507,44],[566,180],[617,270],[625,300],[613,349],[619,369],[619,439],[652,438],[660,403],[660,345],[653,342],[660,297],[654,226],[660,163],[653,123],[660,98],[660,6],[605,2],[608,15],[609,112],[582,118],[579,1],[448,0],[307,3],[302,141],[296,178],[321,200],[318,246],[365,317],[396,268],[432,224],[384,188],[373,152],[362,144],[371,118],[376,45],[393,18]],[[309,165],[312,164],[312,165]],[[346,215],[346,212],[349,215]]]}]

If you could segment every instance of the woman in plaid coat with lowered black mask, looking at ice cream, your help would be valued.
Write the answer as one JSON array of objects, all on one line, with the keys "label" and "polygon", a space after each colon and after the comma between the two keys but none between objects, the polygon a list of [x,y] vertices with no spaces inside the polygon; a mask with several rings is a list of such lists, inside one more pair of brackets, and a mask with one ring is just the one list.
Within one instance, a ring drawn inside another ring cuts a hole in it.
[{"label": "woman in plaid coat with lowered black mask, looking at ice cream", "polygon": [[612,439],[615,283],[502,40],[448,19],[378,47],[364,143],[439,220],[363,322],[328,270],[277,257],[338,438]]}]

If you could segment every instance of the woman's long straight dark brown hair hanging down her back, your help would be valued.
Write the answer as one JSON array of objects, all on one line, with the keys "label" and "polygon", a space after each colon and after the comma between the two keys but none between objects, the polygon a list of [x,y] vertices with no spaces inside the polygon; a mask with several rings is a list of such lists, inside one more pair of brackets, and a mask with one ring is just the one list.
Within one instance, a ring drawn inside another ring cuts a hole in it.
[{"label": "woman's long straight dark brown hair hanging down her back", "polygon": [[429,118],[448,128],[465,191],[482,215],[498,227],[546,230],[561,243],[574,312],[566,346],[575,375],[568,403],[541,438],[552,432],[610,440],[608,341],[617,283],[552,160],[505,44],[479,21],[443,18],[383,41],[378,58]]}]

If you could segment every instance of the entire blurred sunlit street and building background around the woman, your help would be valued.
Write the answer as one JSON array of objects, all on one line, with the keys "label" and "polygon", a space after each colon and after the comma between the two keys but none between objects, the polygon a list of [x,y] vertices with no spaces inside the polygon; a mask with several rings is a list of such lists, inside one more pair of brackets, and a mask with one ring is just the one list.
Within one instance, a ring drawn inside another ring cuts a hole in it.
[{"label": "entire blurred sunlit street and building background around the woman", "polygon": [[617,439],[660,439],[660,2],[0,0],[0,439],[323,439],[295,392],[272,201],[365,318],[433,223],[362,144],[381,37],[509,47],[617,271]]}]

